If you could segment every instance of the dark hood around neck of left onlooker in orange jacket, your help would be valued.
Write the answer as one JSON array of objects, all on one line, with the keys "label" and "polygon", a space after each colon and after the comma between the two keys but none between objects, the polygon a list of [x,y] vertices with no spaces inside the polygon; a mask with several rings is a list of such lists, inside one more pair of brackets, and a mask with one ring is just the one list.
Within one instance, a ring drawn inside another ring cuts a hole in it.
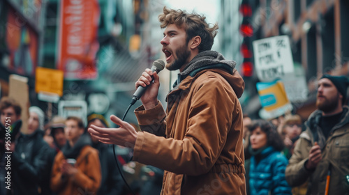
[{"label": "dark hood around neck of left onlooker in orange jacket", "polygon": [[80,138],[77,140],[73,148],[70,146],[69,142],[67,141],[66,145],[62,148],[62,153],[64,157],[73,158],[76,159],[77,156],[80,155],[80,151],[84,146],[91,146],[91,138],[87,134],[82,134]]}]

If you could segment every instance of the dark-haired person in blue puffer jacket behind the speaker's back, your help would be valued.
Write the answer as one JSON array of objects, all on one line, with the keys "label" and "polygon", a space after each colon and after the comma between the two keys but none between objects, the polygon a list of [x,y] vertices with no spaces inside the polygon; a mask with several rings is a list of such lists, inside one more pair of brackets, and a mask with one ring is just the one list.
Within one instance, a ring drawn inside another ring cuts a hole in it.
[{"label": "dark-haired person in blue puffer jacket behind the speaker's back", "polygon": [[288,160],[280,152],[283,140],[267,120],[253,120],[248,126],[251,159],[246,160],[247,194],[292,194],[285,180]]}]

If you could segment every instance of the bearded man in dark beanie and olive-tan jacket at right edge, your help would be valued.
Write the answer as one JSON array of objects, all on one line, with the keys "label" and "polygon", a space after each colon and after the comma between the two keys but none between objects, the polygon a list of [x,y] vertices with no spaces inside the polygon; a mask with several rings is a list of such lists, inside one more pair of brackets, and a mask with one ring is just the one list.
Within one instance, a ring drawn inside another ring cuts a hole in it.
[{"label": "bearded man in dark beanie and olive-tan jacket at right edge", "polygon": [[[306,194],[349,194],[349,79],[322,75],[316,107],[299,136],[286,169],[292,187],[308,181]],[[329,176],[329,180],[327,179]]]}]

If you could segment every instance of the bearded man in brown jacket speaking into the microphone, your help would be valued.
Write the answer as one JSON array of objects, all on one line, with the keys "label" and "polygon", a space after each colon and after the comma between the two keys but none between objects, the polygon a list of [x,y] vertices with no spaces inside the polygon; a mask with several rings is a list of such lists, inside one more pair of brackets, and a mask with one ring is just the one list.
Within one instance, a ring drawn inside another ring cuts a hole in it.
[{"label": "bearded man in brown jacket speaking into the microphone", "polygon": [[146,69],[135,83],[147,87],[135,109],[142,132],[110,116],[119,128],[92,125],[89,133],[132,148],[134,161],[164,169],[161,194],[246,194],[238,100],[244,80],[234,61],[211,51],[218,24],[166,7],[158,18],[165,29],[165,68],[180,70],[166,98],[168,108],[157,99],[157,72]]}]

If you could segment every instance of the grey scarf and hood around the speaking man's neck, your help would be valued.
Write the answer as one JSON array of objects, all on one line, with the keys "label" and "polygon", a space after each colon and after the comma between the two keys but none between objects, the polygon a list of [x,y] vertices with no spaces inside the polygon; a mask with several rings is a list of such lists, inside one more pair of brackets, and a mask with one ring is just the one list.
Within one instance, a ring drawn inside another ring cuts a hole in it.
[{"label": "grey scarf and hood around the speaking man's neck", "polygon": [[237,98],[244,93],[245,82],[239,72],[235,69],[235,61],[225,60],[223,55],[215,51],[200,52],[195,56],[190,63],[184,68],[183,72],[178,74],[178,79],[174,83],[177,86],[183,79],[188,76],[198,76],[198,72],[205,72],[203,70],[210,70],[221,75],[228,81],[235,91]]}]

